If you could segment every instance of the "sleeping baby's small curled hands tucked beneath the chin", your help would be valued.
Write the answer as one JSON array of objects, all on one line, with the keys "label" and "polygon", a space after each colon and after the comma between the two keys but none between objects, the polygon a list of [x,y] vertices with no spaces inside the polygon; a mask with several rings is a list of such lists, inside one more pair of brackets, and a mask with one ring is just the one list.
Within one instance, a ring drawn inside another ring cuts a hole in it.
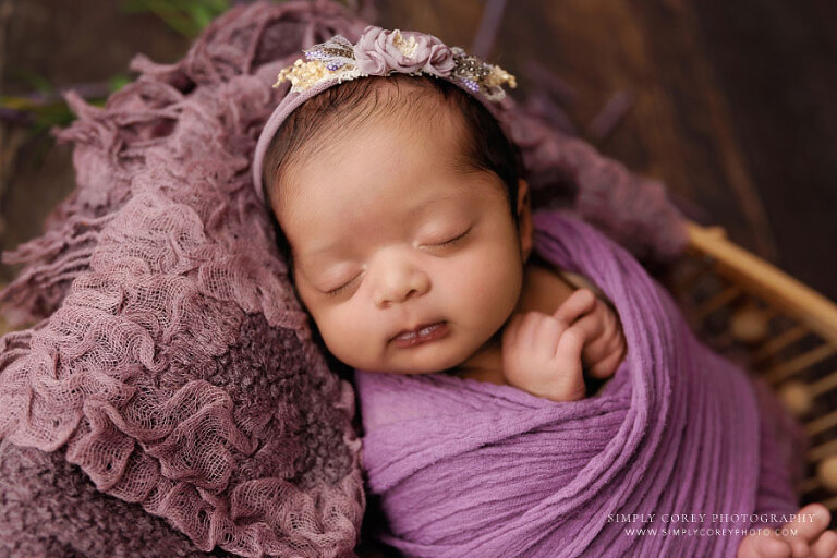
[{"label": "sleeping baby's small curled hands tucked beneath the chin", "polygon": [[616,372],[626,352],[619,319],[589,289],[573,292],[550,316],[512,316],[502,333],[506,380],[554,401],[575,401],[586,392],[582,362],[591,376]]}]

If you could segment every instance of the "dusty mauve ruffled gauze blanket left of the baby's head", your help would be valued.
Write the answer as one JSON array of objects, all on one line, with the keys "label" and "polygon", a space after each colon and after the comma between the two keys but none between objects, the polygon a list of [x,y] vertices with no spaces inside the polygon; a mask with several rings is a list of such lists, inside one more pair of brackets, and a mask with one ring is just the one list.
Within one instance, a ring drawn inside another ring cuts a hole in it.
[{"label": "dusty mauve ruffled gauze blanket left of the baby's head", "polygon": [[364,22],[239,5],[78,114],[77,187],[0,293],[0,556],[354,556],[354,392],[293,294],[250,161],[278,66]]}]

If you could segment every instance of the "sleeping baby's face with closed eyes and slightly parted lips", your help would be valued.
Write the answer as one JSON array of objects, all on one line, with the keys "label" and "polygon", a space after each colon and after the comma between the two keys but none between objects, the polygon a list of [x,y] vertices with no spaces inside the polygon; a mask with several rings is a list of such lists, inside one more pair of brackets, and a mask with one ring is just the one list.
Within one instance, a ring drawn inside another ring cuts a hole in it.
[{"label": "sleeping baby's face with closed eyes and slightly parted lips", "polygon": [[[524,251],[505,189],[456,168],[459,125],[373,119],[296,162],[275,202],[299,295],[350,366],[453,367],[518,303]],[[433,324],[434,340],[397,338]]]}]

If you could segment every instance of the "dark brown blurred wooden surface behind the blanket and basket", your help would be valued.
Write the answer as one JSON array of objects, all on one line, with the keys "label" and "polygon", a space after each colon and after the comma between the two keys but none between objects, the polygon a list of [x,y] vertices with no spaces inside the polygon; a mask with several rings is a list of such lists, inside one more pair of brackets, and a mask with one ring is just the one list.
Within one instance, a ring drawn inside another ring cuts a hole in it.
[{"label": "dark brown blurred wooden surface behind the blanket and basket", "polygon": [[[189,39],[116,0],[0,0],[0,92],[26,72],[54,87],[158,62]],[[69,7],[72,5],[72,9]],[[484,1],[378,0],[378,23],[469,47]],[[692,215],[837,299],[837,3],[833,0],[517,0],[489,57],[521,77],[532,61],[572,89],[583,134],[611,97],[633,102],[597,147],[663,180]],[[36,235],[72,189],[70,149],[0,125],[0,245]],[[0,267],[0,282],[13,274]]]}]

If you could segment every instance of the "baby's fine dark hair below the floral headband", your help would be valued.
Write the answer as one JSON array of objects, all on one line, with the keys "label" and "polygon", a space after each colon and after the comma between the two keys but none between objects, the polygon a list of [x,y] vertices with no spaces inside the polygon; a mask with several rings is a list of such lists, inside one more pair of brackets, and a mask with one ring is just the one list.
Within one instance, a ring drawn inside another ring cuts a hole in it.
[{"label": "baby's fine dark hair below the floral headband", "polygon": [[[380,89],[393,86],[396,95],[380,96]],[[403,86],[403,89],[402,89]],[[450,110],[437,110],[442,106]],[[429,109],[429,110],[427,110]],[[298,107],[277,131],[267,148],[263,166],[264,198],[272,208],[272,196],[281,183],[283,169],[292,168],[300,158],[314,157],[326,142],[333,141],[375,116],[380,118],[404,110],[412,111],[433,124],[452,112],[461,114],[463,170],[493,172],[502,181],[511,217],[518,226],[518,180],[522,162],[517,145],[502,131],[496,118],[480,101],[448,82],[429,76],[396,74],[388,77],[364,77],[336,85]],[[272,215],[277,241],[282,255],[291,263],[292,254],[277,216]],[[290,266],[292,268],[292,266]]]}]

